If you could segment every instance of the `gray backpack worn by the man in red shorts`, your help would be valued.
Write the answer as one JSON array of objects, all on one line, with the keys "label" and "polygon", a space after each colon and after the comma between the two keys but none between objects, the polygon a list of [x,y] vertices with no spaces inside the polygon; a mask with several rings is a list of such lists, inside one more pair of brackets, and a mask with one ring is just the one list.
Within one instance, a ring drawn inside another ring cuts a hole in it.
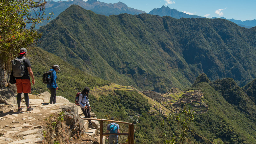
[{"label": "gray backpack worn by the man in red shorts", "polygon": [[24,70],[24,62],[27,58],[23,57],[22,59],[15,58],[12,60],[12,71],[13,76],[15,77],[22,77],[25,74]]}]

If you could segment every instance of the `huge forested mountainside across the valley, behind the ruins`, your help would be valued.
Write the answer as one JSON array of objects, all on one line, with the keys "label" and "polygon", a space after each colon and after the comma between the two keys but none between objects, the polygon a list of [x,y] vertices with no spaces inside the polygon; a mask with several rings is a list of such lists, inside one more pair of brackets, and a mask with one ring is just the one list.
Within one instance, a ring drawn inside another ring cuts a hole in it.
[{"label": "huge forested mountainside across the valley, behind the ruins", "polygon": [[189,88],[205,73],[239,86],[256,76],[256,27],[224,19],[149,14],[109,17],[70,6],[43,33],[39,47],[91,75],[141,90]]}]

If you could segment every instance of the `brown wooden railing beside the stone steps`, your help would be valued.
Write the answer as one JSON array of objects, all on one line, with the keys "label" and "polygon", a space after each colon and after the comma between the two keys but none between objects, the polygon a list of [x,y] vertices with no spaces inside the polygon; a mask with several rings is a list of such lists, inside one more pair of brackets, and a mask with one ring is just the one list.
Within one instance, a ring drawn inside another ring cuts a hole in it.
[{"label": "brown wooden railing beside the stone steps", "polygon": [[103,133],[103,121],[128,124],[129,125],[128,133],[127,132],[126,133],[115,133],[115,135],[128,135],[128,142],[127,143],[122,143],[122,144],[134,144],[134,137],[133,137],[134,124],[133,123],[113,121],[113,120],[107,120],[107,119],[94,119],[94,118],[81,118],[81,119],[100,121],[100,144],[102,144],[103,135],[113,134],[113,133]]}]

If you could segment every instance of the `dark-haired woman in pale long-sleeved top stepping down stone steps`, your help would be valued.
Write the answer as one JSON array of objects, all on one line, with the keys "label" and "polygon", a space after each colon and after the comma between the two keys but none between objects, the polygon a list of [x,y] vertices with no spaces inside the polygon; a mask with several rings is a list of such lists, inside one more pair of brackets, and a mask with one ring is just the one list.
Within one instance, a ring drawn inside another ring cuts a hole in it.
[{"label": "dark-haired woman in pale long-sleeved top stepping down stone steps", "polygon": [[[89,91],[90,91],[89,87],[85,87],[84,90],[79,95],[79,100],[78,100],[78,103],[80,105],[80,108],[83,111],[85,118],[91,118],[91,114],[90,114],[91,107],[89,104],[89,95],[88,95]],[[88,121],[89,121],[89,128],[95,129],[95,127],[92,126],[91,120],[88,120]]]}]

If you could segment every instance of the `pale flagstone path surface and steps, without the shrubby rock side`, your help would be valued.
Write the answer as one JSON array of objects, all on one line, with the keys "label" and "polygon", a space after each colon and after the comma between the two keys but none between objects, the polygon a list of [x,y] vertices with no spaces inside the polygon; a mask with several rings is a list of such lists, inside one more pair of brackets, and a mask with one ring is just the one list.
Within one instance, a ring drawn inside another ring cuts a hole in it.
[{"label": "pale flagstone path surface and steps, without the shrubby rock side", "polygon": [[[39,95],[29,95],[29,106],[34,108],[30,112],[26,112],[26,103],[21,101],[23,110],[17,112],[17,104],[6,105],[0,103],[0,144],[36,144],[42,143],[44,140],[44,133],[42,126],[45,124],[44,119],[50,115],[61,112],[59,108],[62,105],[70,104],[70,102],[63,97],[56,97],[56,104],[49,104],[50,93],[44,92]],[[78,107],[78,114],[84,117],[81,108]],[[91,112],[91,116],[95,114]],[[99,122],[92,121],[96,129],[88,128],[88,120],[84,124],[85,134],[89,137],[97,138],[99,130]],[[88,128],[88,129],[87,129]],[[105,137],[104,137],[105,142]]]}]

